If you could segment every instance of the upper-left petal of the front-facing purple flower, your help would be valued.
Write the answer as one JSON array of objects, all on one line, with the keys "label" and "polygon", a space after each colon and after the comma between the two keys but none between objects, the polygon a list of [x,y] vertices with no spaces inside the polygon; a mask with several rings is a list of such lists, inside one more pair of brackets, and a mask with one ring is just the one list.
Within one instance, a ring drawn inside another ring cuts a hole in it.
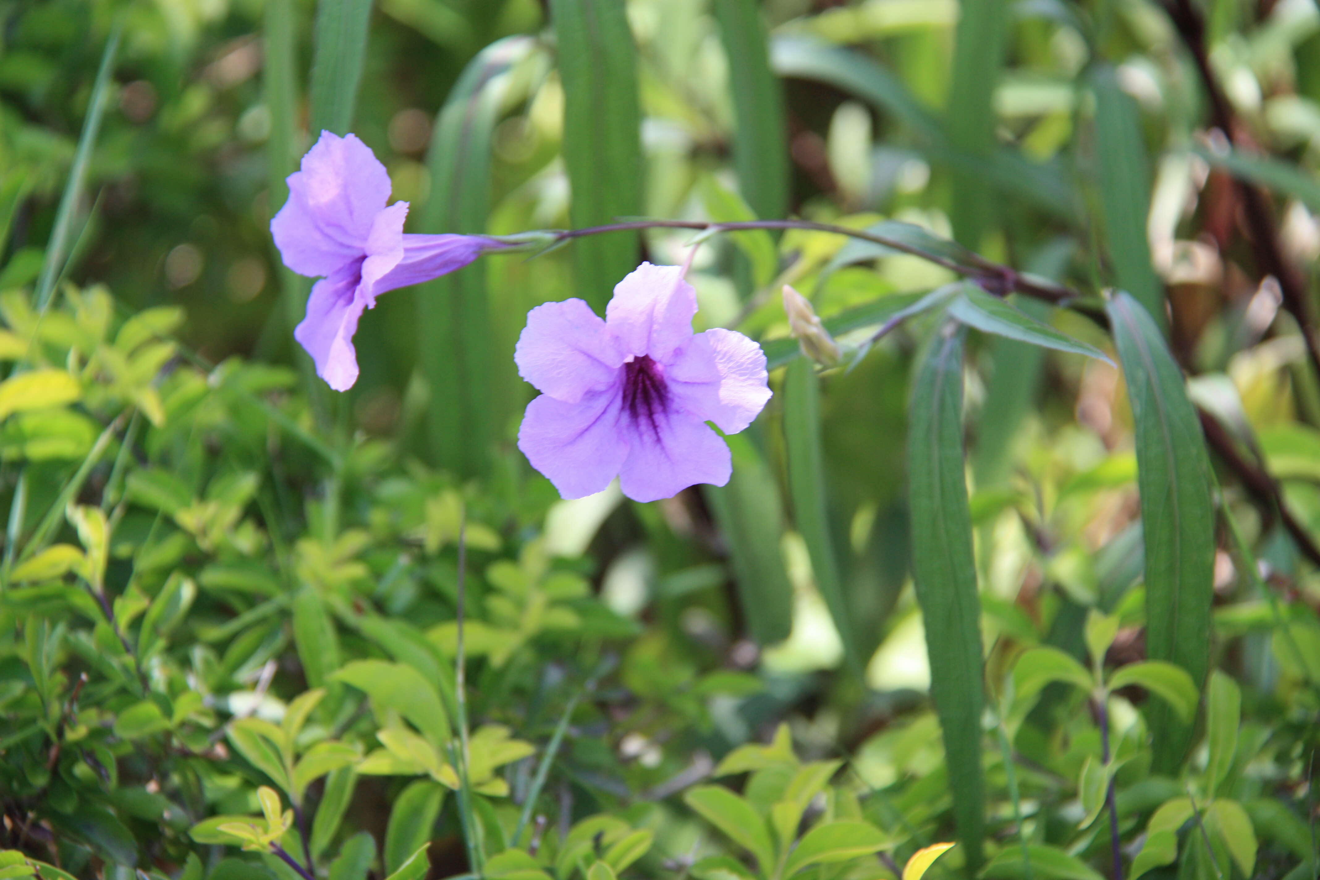
[{"label": "upper-left petal of the front-facing purple flower", "polygon": [[574,298],[527,313],[513,361],[517,375],[537,391],[576,404],[587,392],[619,380],[623,354],[591,306]]}]

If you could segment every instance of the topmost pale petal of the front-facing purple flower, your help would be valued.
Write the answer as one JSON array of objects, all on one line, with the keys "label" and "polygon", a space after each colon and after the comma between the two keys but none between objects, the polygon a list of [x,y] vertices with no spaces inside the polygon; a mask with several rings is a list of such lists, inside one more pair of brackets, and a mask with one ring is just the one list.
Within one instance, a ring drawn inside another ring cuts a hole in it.
[{"label": "topmost pale petal of the front-facing purple flower", "polygon": [[692,338],[697,292],[682,280],[682,267],[643,263],[615,285],[605,318],[627,355],[668,363]]}]

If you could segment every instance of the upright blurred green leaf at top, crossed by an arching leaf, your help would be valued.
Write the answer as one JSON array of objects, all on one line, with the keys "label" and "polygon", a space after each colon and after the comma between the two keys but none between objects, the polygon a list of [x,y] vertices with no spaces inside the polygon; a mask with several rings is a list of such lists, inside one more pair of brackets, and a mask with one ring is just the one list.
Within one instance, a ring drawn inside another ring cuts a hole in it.
[{"label": "upright blurred green leaf at top, crossed by an arching leaf", "polygon": [[[960,4],[949,86],[949,140],[969,156],[994,153],[994,88],[1003,67],[1008,32],[1007,0],[970,0]],[[982,174],[958,170],[953,175],[953,237],[969,248],[994,216],[993,190]]]}]

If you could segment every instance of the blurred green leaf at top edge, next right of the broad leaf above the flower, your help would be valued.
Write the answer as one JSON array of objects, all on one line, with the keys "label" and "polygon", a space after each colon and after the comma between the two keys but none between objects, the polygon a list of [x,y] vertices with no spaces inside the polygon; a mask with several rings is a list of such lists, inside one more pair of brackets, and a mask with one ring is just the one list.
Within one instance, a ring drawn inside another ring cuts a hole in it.
[{"label": "blurred green leaf at top edge, next right of the broad leaf above the flower", "polygon": [[784,91],[770,69],[760,4],[756,0],[715,0],[714,11],[719,40],[729,58],[738,189],[758,216],[787,216]]}]

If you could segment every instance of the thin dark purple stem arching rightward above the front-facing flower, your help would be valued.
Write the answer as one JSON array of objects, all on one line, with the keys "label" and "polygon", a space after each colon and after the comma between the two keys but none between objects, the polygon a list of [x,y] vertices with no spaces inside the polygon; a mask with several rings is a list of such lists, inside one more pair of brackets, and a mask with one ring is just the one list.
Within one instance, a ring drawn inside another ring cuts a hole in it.
[{"label": "thin dark purple stem arching rightward above the front-facing flower", "polygon": [[987,292],[995,296],[1002,297],[1008,293],[1020,293],[1023,296],[1044,299],[1045,302],[1055,305],[1081,297],[1081,294],[1072,288],[1057,285],[1043,278],[1020,274],[1011,267],[993,263],[979,255],[972,253],[970,251],[968,252],[966,261],[958,261],[952,257],[940,256],[939,253],[931,253],[929,251],[899,239],[876,235],[875,232],[870,232],[867,230],[854,230],[846,226],[816,223],[813,220],[746,220],[738,223],[708,223],[705,220],[626,220],[622,223],[607,223],[605,226],[593,226],[582,230],[561,230],[554,232],[554,243],[561,244],[564,241],[581,239],[589,235],[601,235],[602,232],[628,232],[652,228],[711,232],[744,232],[748,230],[809,230],[813,232],[832,232],[834,235],[846,235],[853,239],[861,239],[863,241],[870,241],[894,251],[921,257],[923,260],[941,265],[952,272],[957,272],[958,274],[975,278]]}]

